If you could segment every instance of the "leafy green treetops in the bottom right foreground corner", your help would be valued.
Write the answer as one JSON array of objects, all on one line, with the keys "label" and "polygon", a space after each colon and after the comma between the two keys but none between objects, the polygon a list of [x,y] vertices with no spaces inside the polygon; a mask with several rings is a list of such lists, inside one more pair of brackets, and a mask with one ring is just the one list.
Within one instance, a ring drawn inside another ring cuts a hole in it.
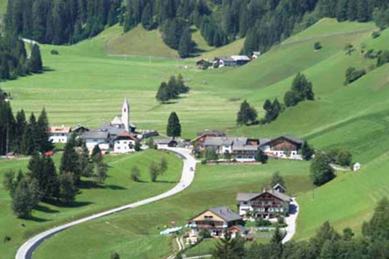
[{"label": "leafy green treetops in the bottom right foreground corner", "polygon": [[315,236],[306,241],[282,244],[279,228],[268,244],[254,242],[244,245],[243,238],[232,239],[229,234],[214,248],[215,259],[373,259],[389,257],[389,200],[380,200],[369,221],[362,225],[362,235],[356,237],[351,228],[338,233],[328,221]]}]

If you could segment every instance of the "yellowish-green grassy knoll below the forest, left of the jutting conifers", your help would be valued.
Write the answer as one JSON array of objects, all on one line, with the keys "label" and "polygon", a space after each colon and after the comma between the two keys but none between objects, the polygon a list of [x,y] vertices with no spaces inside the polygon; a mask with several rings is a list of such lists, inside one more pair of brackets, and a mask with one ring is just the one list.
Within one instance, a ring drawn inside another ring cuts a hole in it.
[{"label": "yellowish-green grassy knoll below the forest, left of the jutting conifers", "polygon": [[113,39],[109,39],[106,45],[106,52],[109,54],[178,58],[177,51],[163,42],[159,30],[147,31],[141,25],[124,34],[123,27],[119,25],[108,30],[114,32]]}]

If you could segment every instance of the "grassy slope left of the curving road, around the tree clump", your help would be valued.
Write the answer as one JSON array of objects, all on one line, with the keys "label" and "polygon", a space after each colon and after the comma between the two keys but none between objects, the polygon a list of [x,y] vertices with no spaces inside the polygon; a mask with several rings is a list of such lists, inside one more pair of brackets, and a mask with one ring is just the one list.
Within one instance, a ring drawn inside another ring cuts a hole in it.
[{"label": "grassy slope left of the curving road, around the tree clump", "polygon": [[[165,182],[152,183],[149,180],[148,167],[151,161],[159,162],[166,157],[169,170],[159,180]],[[59,155],[55,161],[59,163]],[[28,236],[43,231],[49,227],[77,217],[106,210],[115,206],[131,203],[146,197],[162,193],[172,188],[179,179],[182,161],[172,154],[157,151],[147,151],[138,154],[109,156],[105,158],[109,166],[105,188],[91,188],[85,186],[81,194],[76,197],[73,206],[55,206],[41,203],[33,212],[32,220],[16,219],[11,211],[11,199],[0,183],[0,238],[6,235],[11,241],[0,246],[2,258],[11,259],[16,249]],[[0,178],[9,169],[23,169],[25,171],[28,159],[0,161]],[[145,182],[136,183],[130,178],[131,168],[136,165],[141,171],[141,179]],[[22,227],[24,223],[26,227]]]}]

